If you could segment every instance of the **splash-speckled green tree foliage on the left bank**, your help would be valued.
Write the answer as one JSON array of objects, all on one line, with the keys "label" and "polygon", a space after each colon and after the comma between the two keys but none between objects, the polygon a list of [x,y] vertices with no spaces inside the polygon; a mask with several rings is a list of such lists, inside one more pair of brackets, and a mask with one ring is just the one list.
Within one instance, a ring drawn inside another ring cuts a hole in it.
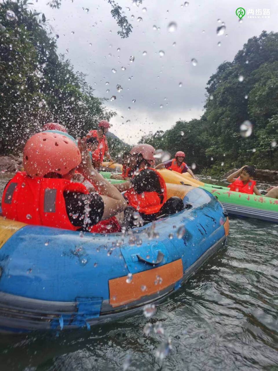
[{"label": "splash-speckled green tree foliage on the left bank", "polygon": [[[7,12],[11,17],[7,16]],[[13,17],[14,14],[14,17]],[[85,74],[57,55],[44,14],[27,0],[0,7],[0,152],[9,153],[45,122],[65,125],[74,137],[109,120],[104,99],[93,95]]]}]

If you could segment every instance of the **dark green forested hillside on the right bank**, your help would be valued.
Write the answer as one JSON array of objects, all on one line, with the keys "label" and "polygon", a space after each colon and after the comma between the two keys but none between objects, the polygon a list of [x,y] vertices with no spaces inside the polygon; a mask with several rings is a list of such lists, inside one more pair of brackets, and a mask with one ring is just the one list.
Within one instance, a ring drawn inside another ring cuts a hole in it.
[{"label": "dark green forested hillside on the right bank", "polygon": [[[182,150],[189,165],[195,163],[196,170],[211,174],[247,163],[277,170],[278,33],[263,31],[249,39],[232,62],[218,67],[206,91],[201,119],[178,121],[140,142],[172,155]],[[242,131],[247,120],[251,125],[247,122],[248,130]]]}]

